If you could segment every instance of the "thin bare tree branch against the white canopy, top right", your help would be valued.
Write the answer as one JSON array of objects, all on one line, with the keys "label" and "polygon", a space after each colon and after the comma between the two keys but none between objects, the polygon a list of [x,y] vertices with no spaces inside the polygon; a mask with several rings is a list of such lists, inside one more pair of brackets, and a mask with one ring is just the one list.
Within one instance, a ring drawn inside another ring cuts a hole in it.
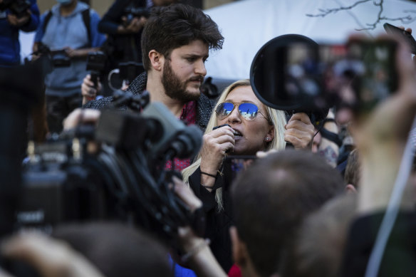
[{"label": "thin bare tree branch against the white canopy, top right", "polygon": [[[321,14],[306,14],[306,16],[309,16],[309,17],[325,17],[328,14],[336,14],[338,11],[346,11],[346,10],[353,9],[353,8],[355,8],[355,6],[367,3],[369,1],[373,1],[373,0],[360,0],[360,1],[356,1],[354,4],[352,4],[350,6],[340,6],[339,8],[333,8],[333,9],[318,9],[318,11],[320,11]],[[386,17],[386,16],[383,15],[383,11],[384,11],[383,4],[384,4],[384,0],[380,0],[378,2],[374,0],[373,5],[377,6],[378,9],[379,9],[377,19],[373,23],[366,23],[365,25],[368,26],[367,28],[360,28],[360,29],[356,29],[356,30],[357,31],[374,30],[381,21],[400,21],[400,23],[402,23],[402,24],[408,24],[408,23],[411,23],[411,22],[416,20],[416,11],[415,10],[405,10],[405,11],[403,11],[404,13],[407,13],[407,14],[409,14],[409,13],[415,14],[414,16],[407,15],[407,16],[402,16],[402,17],[397,17],[397,18]]]}]

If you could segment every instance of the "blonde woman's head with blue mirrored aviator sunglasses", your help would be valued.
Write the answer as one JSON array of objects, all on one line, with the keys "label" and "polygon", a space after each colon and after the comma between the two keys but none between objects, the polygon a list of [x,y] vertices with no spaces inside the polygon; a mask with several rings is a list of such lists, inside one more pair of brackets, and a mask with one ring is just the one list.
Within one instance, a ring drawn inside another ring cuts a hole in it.
[{"label": "blonde woman's head with blue mirrored aviator sunglasses", "polygon": [[[244,104],[243,104],[244,103]],[[284,149],[286,117],[254,95],[249,80],[238,80],[220,95],[207,125],[229,124],[235,131],[233,155],[255,155],[257,151]]]}]

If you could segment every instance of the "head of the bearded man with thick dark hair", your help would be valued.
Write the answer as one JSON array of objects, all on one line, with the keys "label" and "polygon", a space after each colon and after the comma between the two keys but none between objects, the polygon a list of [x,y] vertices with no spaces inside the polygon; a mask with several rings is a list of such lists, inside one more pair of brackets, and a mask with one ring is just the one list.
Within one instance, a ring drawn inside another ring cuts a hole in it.
[{"label": "head of the bearded man with thick dark hair", "polygon": [[172,99],[196,100],[209,48],[222,48],[217,23],[201,9],[184,4],[155,7],[142,32],[143,66],[160,75]]}]

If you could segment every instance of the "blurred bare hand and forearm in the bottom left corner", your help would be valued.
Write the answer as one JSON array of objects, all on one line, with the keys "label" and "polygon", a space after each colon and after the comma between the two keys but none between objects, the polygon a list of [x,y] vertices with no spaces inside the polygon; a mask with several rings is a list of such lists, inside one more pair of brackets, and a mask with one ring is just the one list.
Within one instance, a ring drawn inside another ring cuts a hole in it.
[{"label": "blurred bare hand and forearm in the bottom left corner", "polygon": [[40,234],[14,236],[4,241],[1,254],[30,263],[43,277],[103,277],[67,244]]}]

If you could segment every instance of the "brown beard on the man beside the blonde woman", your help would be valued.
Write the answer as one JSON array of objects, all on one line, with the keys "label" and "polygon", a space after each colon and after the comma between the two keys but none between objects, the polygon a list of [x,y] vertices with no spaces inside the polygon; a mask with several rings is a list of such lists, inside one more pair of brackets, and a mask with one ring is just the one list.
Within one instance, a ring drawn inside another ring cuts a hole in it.
[{"label": "brown beard on the man beside the blonde woman", "polygon": [[181,82],[170,66],[170,61],[167,60],[165,66],[163,66],[162,85],[165,88],[165,93],[172,99],[180,100],[182,102],[196,101],[199,98],[200,93],[189,93],[187,91],[187,84],[190,80],[204,81],[204,77],[198,76]]}]

